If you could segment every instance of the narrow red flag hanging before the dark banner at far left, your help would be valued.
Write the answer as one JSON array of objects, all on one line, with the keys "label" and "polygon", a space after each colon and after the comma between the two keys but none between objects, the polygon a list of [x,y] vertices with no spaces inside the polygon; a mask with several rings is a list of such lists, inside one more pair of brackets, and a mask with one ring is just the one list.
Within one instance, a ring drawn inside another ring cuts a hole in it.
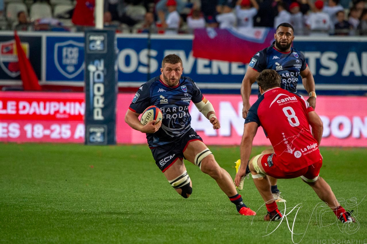
[{"label": "narrow red flag hanging before the dark banner at far left", "polygon": [[40,84],[38,83],[38,78],[34,72],[32,64],[30,64],[21,46],[21,40],[19,39],[16,30],[14,31],[14,38],[17,44],[19,70],[21,71],[21,79],[24,90],[42,90]]}]

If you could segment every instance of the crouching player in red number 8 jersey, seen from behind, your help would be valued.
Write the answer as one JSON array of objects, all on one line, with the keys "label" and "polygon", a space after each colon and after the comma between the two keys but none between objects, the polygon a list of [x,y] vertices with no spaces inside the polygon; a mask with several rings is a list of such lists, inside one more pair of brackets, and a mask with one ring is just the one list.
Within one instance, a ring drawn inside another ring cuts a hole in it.
[{"label": "crouching player in red number 8 jersey, seen from behind", "polygon": [[[241,160],[248,162],[252,141],[261,125],[274,148],[274,153],[257,155],[248,165],[266,204],[268,213],[264,220],[279,221],[282,218],[272,196],[270,176],[276,179],[301,177],[341,222],[354,222],[351,212],[338,203],[330,186],[319,176],[323,160],[319,151],[323,133],[320,117],[302,96],[281,89],[280,78],[275,70],[260,73],[258,85],[262,95],[248,111],[240,146]],[[245,173],[245,167],[241,167],[236,174],[236,185]]]}]

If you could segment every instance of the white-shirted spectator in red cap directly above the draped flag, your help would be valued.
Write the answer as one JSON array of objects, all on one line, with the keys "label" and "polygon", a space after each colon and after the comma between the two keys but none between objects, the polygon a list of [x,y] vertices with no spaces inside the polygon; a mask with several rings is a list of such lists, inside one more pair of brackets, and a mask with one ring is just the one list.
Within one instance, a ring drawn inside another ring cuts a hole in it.
[{"label": "white-shirted spectator in red cap directly above the draped flag", "polygon": [[236,16],[238,27],[254,27],[253,18],[257,15],[259,4],[256,0],[237,0]]}]

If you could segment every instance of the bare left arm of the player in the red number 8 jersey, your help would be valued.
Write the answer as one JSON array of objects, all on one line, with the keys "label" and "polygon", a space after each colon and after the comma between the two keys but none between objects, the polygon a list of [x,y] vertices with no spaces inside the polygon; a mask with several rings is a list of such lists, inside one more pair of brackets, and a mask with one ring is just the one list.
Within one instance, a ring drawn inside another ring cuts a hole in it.
[{"label": "bare left arm of the player in the red number 8 jersey", "polygon": [[250,122],[244,125],[243,136],[240,145],[241,167],[235,177],[236,186],[240,184],[241,177],[243,177],[246,173],[246,166],[248,164],[248,160],[250,159],[252,150],[252,141],[256,135],[257,128],[258,124],[256,122]]}]

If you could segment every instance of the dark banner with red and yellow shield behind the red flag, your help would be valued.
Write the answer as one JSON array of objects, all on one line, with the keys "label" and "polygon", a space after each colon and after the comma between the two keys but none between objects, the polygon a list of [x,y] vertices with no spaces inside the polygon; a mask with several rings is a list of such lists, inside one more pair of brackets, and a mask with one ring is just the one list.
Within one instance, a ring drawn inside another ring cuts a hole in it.
[{"label": "dark banner with red and yellow shield behind the red flag", "polygon": [[[20,36],[22,48],[41,80],[41,37]],[[0,36],[0,80],[20,80],[18,52],[14,35]]]}]

